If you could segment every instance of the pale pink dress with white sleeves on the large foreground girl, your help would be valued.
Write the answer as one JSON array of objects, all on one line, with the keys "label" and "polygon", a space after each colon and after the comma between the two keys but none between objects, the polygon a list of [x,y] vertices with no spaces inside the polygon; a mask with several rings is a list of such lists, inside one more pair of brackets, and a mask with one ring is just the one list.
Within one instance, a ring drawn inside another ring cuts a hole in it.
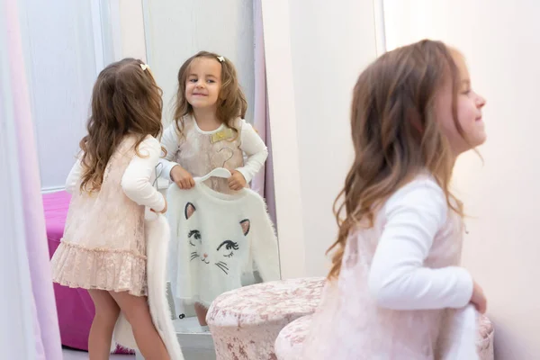
[{"label": "pale pink dress with white sleeves on the large foreground girl", "polygon": [[349,234],[302,359],[477,358],[473,279],[459,267],[463,230],[431,177],[393,193],[372,227]]}]

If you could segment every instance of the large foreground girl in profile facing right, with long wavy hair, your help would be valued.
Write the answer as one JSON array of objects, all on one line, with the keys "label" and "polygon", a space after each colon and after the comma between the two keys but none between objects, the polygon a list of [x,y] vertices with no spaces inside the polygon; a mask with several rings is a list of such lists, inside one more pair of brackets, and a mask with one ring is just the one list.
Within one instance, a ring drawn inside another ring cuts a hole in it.
[{"label": "large foreground girl in profile facing right, with long wavy hair", "polygon": [[455,310],[486,310],[459,267],[463,207],[449,190],[456,157],[486,139],[484,104],[462,55],[437,41],[388,52],[360,75],[356,159],[337,211],[346,218],[303,358],[440,359]]}]

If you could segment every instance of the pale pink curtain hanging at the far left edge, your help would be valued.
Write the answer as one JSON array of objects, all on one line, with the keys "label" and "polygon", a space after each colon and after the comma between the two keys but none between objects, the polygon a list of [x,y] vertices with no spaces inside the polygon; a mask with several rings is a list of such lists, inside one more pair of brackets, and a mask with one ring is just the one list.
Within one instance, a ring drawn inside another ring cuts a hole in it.
[{"label": "pale pink curtain hanging at the far left edge", "polygon": [[[31,103],[29,99],[26,74],[24,69],[21,24],[17,2],[15,0],[2,0],[4,13],[4,26],[0,31],[6,30],[8,34],[6,47],[8,58],[9,78],[13,104],[12,121],[15,130],[17,147],[14,153],[18,157],[19,174],[21,179],[19,199],[23,207],[23,234],[24,238],[11,239],[26,243],[26,256],[28,258],[31,280],[30,306],[33,315],[33,339],[25,339],[27,344],[34,342],[35,357],[32,359],[60,360],[62,349],[58,331],[58,318],[49,266],[49,249],[43,216],[43,204],[40,193],[40,173],[36,152],[34,127],[31,120]],[[2,49],[4,50],[4,49]],[[4,189],[5,190],[5,189]],[[9,296],[4,293],[3,296]],[[2,356],[0,356],[2,357]],[[22,357],[21,357],[22,358]]]}]

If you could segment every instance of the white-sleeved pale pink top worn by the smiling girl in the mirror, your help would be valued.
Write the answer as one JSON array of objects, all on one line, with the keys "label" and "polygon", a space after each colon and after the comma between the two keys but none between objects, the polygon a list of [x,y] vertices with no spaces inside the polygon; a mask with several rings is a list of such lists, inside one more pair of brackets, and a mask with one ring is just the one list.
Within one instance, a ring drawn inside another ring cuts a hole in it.
[{"label": "white-sleeved pale pink top worn by the smiling girl in the mirror", "polygon": [[[176,165],[184,167],[193,176],[202,176],[225,163],[225,167],[238,170],[249,183],[264,166],[268,148],[257,131],[244,119],[239,118],[238,139],[212,142],[212,136],[227,129],[227,126],[222,124],[216,130],[201,130],[193,116],[184,118],[182,137],[179,136],[175,124],[168,126],[161,139],[161,145],[166,149],[166,157],[161,159],[161,176],[170,179],[171,170]],[[222,148],[230,148],[233,153],[219,153]]]}]

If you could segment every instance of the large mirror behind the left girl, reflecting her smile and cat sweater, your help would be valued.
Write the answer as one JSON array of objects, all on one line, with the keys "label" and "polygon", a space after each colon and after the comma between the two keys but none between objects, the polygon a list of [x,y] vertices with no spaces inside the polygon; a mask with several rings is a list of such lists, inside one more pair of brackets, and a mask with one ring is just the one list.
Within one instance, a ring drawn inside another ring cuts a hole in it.
[{"label": "large mirror behind the left girl, reflecting her smile and cat sweater", "polygon": [[[168,202],[170,310],[178,334],[209,335],[205,314],[216,296],[281,277],[260,11],[245,0],[20,3],[49,256],[65,234],[72,195],[64,186],[86,133],[96,77],[114,61],[139,58],[163,90],[162,145],[168,163],[156,167],[154,184]],[[179,84],[180,67],[200,51],[215,56],[193,60]],[[200,124],[193,107],[205,101],[201,98],[216,81],[230,80],[221,70],[233,67],[247,105],[233,119],[235,129]],[[218,73],[212,73],[216,68]],[[179,86],[189,104],[182,129],[191,152],[174,141],[172,148],[165,143],[167,129],[175,130]],[[200,94],[189,93],[188,86]],[[267,151],[264,158],[257,157],[261,144]],[[254,156],[258,166],[241,171]],[[208,157],[209,164],[197,167]],[[197,180],[193,188],[180,189],[171,181],[172,163],[189,170]],[[232,189],[223,171],[238,172],[246,187],[239,181],[239,190]],[[201,179],[205,175],[209,177]],[[54,289],[62,344],[87,350],[95,313],[92,299],[75,286],[54,284]],[[210,336],[187,338],[184,343],[204,338],[202,347],[211,347]]]}]

